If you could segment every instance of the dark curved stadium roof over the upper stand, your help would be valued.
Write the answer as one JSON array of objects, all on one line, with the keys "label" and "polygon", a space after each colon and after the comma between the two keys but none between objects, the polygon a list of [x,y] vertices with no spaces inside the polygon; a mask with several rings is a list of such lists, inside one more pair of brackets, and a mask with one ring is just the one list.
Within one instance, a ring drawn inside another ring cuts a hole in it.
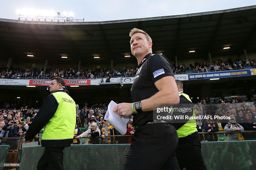
[{"label": "dark curved stadium roof over the upper stand", "polygon": [[[256,6],[187,15],[103,22],[41,22],[0,19],[0,60],[44,63],[136,63],[129,32],[153,39],[153,53],[170,60],[238,56],[256,52]],[[224,50],[223,47],[230,47]],[[188,51],[195,50],[195,53]],[[30,58],[27,55],[34,55]],[[130,55],[131,57],[124,57]],[[62,59],[61,56],[67,56]],[[99,56],[99,59],[93,58]],[[96,61],[96,62],[94,62]]]}]

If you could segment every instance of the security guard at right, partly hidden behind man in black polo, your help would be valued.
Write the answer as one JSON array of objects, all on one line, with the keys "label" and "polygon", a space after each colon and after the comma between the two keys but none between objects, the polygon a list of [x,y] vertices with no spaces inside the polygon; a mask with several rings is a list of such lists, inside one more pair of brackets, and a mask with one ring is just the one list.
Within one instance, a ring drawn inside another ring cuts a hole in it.
[{"label": "security guard at right, partly hidden behind man in black polo", "polygon": [[[172,115],[187,115],[195,116],[193,104],[189,96],[183,93],[183,83],[180,80],[176,80],[179,91],[180,103],[179,108],[191,107],[191,112],[174,112]],[[185,116],[184,116],[185,117]],[[185,167],[187,170],[206,170],[204,160],[201,153],[200,137],[196,128],[196,121],[194,119],[186,120],[175,123],[174,127],[177,129],[179,136],[178,148],[176,150],[176,156],[179,162],[180,170]]]}]

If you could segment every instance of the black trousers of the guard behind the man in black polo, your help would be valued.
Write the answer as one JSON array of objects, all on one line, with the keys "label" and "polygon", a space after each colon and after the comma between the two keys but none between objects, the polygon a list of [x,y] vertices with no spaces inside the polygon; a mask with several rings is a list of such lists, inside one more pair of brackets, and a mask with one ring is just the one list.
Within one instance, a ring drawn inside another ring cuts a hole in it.
[{"label": "black trousers of the guard behind the man in black polo", "polygon": [[190,138],[193,138],[193,140],[181,142],[179,139],[176,155],[180,170],[183,170],[184,167],[186,170],[207,170],[201,153],[199,134],[195,132],[192,135],[190,135]]}]

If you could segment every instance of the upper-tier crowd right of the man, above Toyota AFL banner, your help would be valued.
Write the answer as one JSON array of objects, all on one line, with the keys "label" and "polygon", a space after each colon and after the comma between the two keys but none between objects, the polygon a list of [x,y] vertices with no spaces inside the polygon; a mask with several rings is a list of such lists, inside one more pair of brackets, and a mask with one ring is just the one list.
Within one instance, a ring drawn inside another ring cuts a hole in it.
[{"label": "upper-tier crowd right of the man, above Toyota AFL banner", "polygon": [[189,70],[194,73],[199,72],[209,72],[209,71],[225,71],[232,69],[244,69],[246,67],[256,68],[255,60],[236,60],[232,61],[229,59],[228,61],[222,61],[219,59],[218,61],[214,61],[211,63],[207,62],[195,62],[193,65],[190,63],[189,66],[185,66],[185,64],[178,64],[178,66],[173,67],[173,73],[181,74],[186,73],[186,70]]}]

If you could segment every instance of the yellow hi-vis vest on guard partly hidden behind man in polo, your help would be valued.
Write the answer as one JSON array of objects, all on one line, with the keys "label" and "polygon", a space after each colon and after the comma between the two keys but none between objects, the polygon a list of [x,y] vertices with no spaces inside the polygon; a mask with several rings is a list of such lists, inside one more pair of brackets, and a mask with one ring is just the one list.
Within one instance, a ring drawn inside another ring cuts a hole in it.
[{"label": "yellow hi-vis vest on guard partly hidden behind man in polo", "polygon": [[[181,96],[181,95],[183,95],[184,97],[186,97],[186,99],[188,99],[190,102],[192,102],[187,94],[180,93],[179,96]],[[192,116],[196,116],[194,109],[193,109],[193,115]],[[194,120],[194,119],[190,119],[185,125],[183,125],[179,129],[177,129],[177,133],[178,133],[179,138],[188,136],[188,135],[190,135],[194,132],[197,132],[196,120]]]}]

